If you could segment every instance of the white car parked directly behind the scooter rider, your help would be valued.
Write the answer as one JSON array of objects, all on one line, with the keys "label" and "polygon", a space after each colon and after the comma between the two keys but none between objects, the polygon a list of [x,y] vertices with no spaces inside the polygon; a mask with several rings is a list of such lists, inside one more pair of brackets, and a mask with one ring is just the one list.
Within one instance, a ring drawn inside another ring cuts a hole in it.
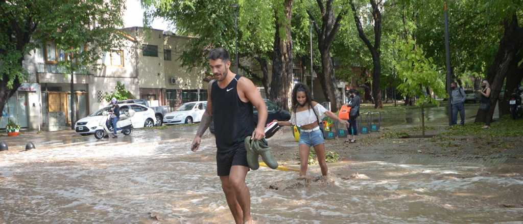
[{"label": "white car parked directly behind the scooter rider", "polygon": [[[153,127],[156,123],[156,116],[154,110],[140,104],[119,104],[120,114],[124,114],[126,110],[133,109],[134,116],[131,117],[133,128]],[[76,121],[74,130],[81,135],[89,135],[95,133],[97,130],[104,130],[101,127],[100,119],[106,119],[102,115],[104,111],[109,111],[111,106],[99,109],[95,113],[79,119]]]}]

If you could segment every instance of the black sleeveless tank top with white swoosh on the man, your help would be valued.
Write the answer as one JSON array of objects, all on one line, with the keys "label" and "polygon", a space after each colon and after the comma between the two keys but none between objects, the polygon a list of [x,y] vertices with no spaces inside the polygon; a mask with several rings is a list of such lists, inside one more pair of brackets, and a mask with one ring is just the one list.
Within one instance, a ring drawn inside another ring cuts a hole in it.
[{"label": "black sleeveless tank top with white swoosh on the man", "polygon": [[228,152],[244,144],[246,136],[254,131],[253,104],[244,103],[238,96],[236,77],[224,89],[212,83],[212,121],[218,152]]}]

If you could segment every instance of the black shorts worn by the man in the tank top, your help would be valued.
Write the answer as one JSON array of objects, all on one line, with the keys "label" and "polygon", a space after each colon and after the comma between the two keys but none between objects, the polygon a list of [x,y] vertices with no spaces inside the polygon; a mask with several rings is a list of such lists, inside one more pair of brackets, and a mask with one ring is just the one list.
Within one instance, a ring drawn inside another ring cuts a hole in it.
[{"label": "black shorts worn by the man in the tank top", "polygon": [[232,166],[249,167],[247,163],[247,151],[243,143],[234,146],[231,150],[223,151],[224,150],[218,150],[216,153],[218,176],[229,176]]}]

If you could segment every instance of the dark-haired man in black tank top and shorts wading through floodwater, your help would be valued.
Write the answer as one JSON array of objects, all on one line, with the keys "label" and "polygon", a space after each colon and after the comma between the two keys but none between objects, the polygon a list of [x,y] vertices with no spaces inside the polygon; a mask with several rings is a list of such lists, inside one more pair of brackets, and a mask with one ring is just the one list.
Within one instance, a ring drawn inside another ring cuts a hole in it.
[{"label": "dark-haired man in black tank top and shorts wading through floodwater", "polygon": [[[207,89],[207,109],[192,141],[197,151],[201,136],[214,121],[218,176],[229,209],[236,223],[252,223],[251,195],[245,184],[249,171],[244,140],[251,135],[260,140],[265,136],[267,107],[253,82],[230,70],[229,52],[215,48],[209,53],[209,65],[215,80]],[[258,125],[254,127],[253,106],[258,109]]]}]

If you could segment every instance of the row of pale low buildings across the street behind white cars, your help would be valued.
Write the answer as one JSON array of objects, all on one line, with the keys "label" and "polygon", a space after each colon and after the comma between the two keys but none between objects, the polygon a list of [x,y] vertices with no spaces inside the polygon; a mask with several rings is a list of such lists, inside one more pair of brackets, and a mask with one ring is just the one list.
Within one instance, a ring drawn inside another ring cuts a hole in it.
[{"label": "row of pale low buildings across the street behind white cars", "polygon": [[5,128],[8,119],[30,130],[70,128],[72,111],[77,120],[106,106],[103,96],[114,91],[117,82],[151,106],[168,105],[172,110],[185,102],[207,99],[205,69],[188,71],[178,60],[189,38],[142,27],[122,31],[127,33],[123,46],[105,52],[98,62],[101,67],[74,72],[73,108],[71,74],[59,66],[66,59],[64,51],[49,41],[27,54],[23,65],[28,82],[9,98],[0,128]]}]

